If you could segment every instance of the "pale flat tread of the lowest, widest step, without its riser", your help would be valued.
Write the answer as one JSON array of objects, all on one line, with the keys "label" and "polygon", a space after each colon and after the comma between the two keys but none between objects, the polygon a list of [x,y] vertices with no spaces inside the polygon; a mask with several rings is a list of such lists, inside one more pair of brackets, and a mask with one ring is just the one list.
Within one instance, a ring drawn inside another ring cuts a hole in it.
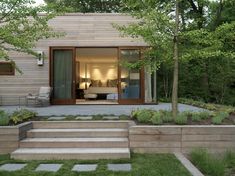
[{"label": "pale flat tread of the lowest, widest step, without its riser", "polygon": [[19,148],[12,154],[130,153],[129,148]]}]

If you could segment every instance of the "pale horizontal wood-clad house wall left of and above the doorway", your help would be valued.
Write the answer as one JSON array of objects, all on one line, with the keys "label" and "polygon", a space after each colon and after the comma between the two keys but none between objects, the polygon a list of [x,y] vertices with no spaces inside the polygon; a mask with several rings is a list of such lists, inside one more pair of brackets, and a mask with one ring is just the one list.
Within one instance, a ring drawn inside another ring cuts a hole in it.
[{"label": "pale horizontal wood-clad house wall left of and above the doorway", "polygon": [[41,86],[49,86],[49,47],[118,47],[146,46],[141,40],[123,38],[112,27],[112,23],[128,24],[135,21],[132,17],[121,14],[66,14],[49,21],[55,31],[65,32],[61,38],[40,40],[35,51],[43,51],[46,56],[44,66],[37,66],[34,56],[11,52],[10,57],[16,62],[23,74],[0,76],[0,96],[3,105],[19,104],[19,96],[28,93],[37,94]]}]

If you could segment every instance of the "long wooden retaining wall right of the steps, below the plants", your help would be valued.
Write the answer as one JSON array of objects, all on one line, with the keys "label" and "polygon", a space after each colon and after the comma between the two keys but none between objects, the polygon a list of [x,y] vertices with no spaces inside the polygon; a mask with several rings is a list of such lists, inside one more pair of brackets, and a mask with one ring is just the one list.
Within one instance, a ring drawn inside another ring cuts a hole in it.
[{"label": "long wooden retaining wall right of the steps, below the plants", "polygon": [[132,126],[129,140],[137,153],[189,153],[194,148],[224,152],[235,149],[235,126]]}]

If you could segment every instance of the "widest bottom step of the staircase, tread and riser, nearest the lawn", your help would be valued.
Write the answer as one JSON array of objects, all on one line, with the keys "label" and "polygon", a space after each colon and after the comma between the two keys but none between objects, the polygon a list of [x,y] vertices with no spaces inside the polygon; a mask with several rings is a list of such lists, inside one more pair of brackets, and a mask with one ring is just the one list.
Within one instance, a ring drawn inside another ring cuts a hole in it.
[{"label": "widest bottom step of the staircase, tread and riser, nearest the lawn", "polygon": [[19,148],[11,158],[20,160],[97,160],[130,158],[129,148]]}]

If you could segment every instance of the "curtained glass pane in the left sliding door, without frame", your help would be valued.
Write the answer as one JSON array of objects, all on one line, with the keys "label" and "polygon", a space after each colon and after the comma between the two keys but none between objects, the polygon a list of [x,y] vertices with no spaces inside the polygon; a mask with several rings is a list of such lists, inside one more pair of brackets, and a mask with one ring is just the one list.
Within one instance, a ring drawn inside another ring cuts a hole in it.
[{"label": "curtained glass pane in the left sliding door, without frame", "polygon": [[54,99],[72,99],[72,60],[71,50],[54,51]]}]

